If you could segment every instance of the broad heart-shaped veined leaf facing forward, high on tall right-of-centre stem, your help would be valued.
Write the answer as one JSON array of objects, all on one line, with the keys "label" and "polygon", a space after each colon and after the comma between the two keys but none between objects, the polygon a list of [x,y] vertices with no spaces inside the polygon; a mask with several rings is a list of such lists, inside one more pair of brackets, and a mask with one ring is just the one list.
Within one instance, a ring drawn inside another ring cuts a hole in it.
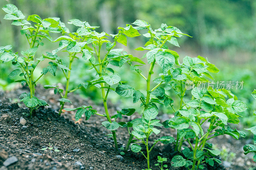
[{"label": "broad heart-shaped veined leaf facing forward, high on tall right-of-centre stem", "polygon": [[175,58],[169,52],[158,51],[156,53],[156,62],[162,68],[163,72],[166,73],[172,68],[175,63]]}]

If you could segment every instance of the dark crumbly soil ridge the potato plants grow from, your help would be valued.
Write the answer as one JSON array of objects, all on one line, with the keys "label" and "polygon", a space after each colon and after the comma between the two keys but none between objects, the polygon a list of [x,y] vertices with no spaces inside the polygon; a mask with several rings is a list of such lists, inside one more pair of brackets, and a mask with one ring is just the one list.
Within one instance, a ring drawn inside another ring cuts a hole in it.
[{"label": "dark crumbly soil ridge the potato plants grow from", "polygon": [[[112,138],[106,136],[110,132],[106,128],[100,127],[101,122],[105,121],[104,117],[94,115],[88,121],[82,117],[75,123],[74,111],[65,112],[59,116],[57,114],[59,96],[40,86],[37,87],[37,92],[40,94],[36,93],[36,96],[46,100],[50,106],[39,108],[30,118],[29,110],[23,104],[19,103],[20,106],[18,106],[17,103],[11,103],[17,101],[18,96],[27,90],[26,87],[22,87],[11,92],[0,92],[0,170],[6,169],[3,162],[12,156],[15,156],[18,161],[7,166],[7,169],[140,170],[147,167],[146,160],[141,153],[128,151],[120,158],[120,153],[114,149]],[[89,99],[83,99],[74,94],[71,94],[69,99],[73,104],[65,107],[92,105],[99,113],[104,112],[103,106],[93,105]],[[110,113],[115,112],[117,108],[111,103],[108,105]],[[25,124],[27,128],[20,124],[20,117],[27,121]],[[140,115],[134,114],[129,119],[138,117]],[[123,119],[128,121],[128,117]],[[175,130],[162,128],[161,133],[162,136],[174,136]],[[125,147],[128,141],[127,129],[119,129],[116,134],[119,147]],[[161,134],[159,135],[161,136]],[[150,139],[152,144],[154,136],[152,135]],[[49,143],[53,144],[60,152],[42,151],[41,149],[49,146]],[[159,143],[150,152],[150,165],[153,170],[159,169],[154,165],[157,163],[158,155],[167,158],[165,164],[168,165],[168,168],[180,169],[171,166],[174,156],[171,144],[166,146]],[[251,166],[246,161],[243,166],[234,165],[230,167],[233,170],[249,169]],[[215,163],[214,167],[207,166],[207,169],[225,168]]]}]

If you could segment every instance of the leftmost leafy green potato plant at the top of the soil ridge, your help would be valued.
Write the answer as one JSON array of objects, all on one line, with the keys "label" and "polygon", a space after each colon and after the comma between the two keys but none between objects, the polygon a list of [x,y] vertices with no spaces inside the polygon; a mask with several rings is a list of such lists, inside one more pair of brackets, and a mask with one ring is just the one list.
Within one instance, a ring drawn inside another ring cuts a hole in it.
[{"label": "leftmost leafy green potato plant at the top of the soil ridge", "polygon": [[[44,61],[45,58],[55,60],[54,56],[50,53],[47,53],[47,55],[38,56],[38,58],[35,55],[39,46],[44,45],[42,42],[43,39],[52,41],[50,32],[55,33],[56,30],[59,29],[59,18],[41,19],[38,15],[33,14],[29,15],[27,19],[24,19],[25,16],[13,4],[7,4],[2,9],[7,13],[4,16],[4,19],[13,20],[12,25],[21,26],[20,33],[25,35],[28,40],[29,48],[21,51],[20,54],[18,52],[14,53],[11,51],[11,45],[0,47],[0,60],[2,60],[3,63],[12,61],[12,64],[16,66],[17,69],[13,70],[9,77],[16,77],[19,75],[23,79],[16,81],[29,87],[30,92],[21,94],[20,101],[23,101],[24,104],[30,108],[30,116],[32,116],[32,111],[34,109],[38,108],[39,106],[47,105],[44,100],[39,100],[34,96],[36,82],[47,72],[50,72],[55,76],[57,67],[69,70],[67,67],[61,64],[49,62],[49,66],[43,69],[41,75],[38,78],[34,78],[34,71],[40,61]],[[33,23],[33,26],[29,21]]]}]

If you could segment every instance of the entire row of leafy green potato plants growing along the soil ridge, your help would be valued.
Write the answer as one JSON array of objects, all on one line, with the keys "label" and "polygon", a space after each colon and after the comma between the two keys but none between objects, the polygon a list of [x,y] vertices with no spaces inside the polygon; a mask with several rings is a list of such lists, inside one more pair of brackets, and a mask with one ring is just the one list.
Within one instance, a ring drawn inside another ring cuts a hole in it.
[{"label": "entire row of leafy green potato plants growing along the soil ridge", "polygon": [[[55,76],[57,69],[59,69],[66,78],[66,88],[61,89],[58,85],[44,85],[46,89],[53,88],[54,93],[60,95],[59,114],[62,113],[63,109],[66,111],[77,110],[76,121],[83,114],[85,120],[88,120],[92,115],[106,117],[106,121],[101,123],[102,126],[111,131],[111,134],[108,135],[114,139],[116,151],[120,151],[116,140],[116,131],[120,128],[127,128],[129,139],[123,150],[127,152],[131,148],[133,152],[140,152],[147,160],[148,170],[150,169],[149,154],[158,142],[174,145],[177,154],[172,158],[172,166],[185,166],[194,170],[203,169],[205,163],[211,166],[214,165],[214,162],[221,163],[219,159],[215,158],[220,154],[220,151],[212,150],[212,144],[208,143],[208,140],[220,135],[230,135],[235,139],[245,137],[244,132],[231,129],[228,125],[228,123],[238,124],[239,117],[242,117],[238,113],[247,109],[247,106],[229,90],[195,87],[191,92],[187,91],[186,81],[197,86],[200,82],[211,81],[213,78],[210,73],[217,73],[219,70],[202,56],[194,58],[186,56],[180,63],[178,53],[168,47],[168,45],[179,47],[177,38],[189,36],[182,33],[178,28],[161,24],[160,28],[153,30],[148,22],[136,20],[132,24],[126,24],[125,27],[118,27],[117,34],[108,34],[96,32],[95,29],[98,26],[90,26],[88,22],[70,19],[68,24],[78,27],[76,32],[70,32],[60,21],[60,18],[41,19],[38,15],[33,14],[25,19],[22,12],[13,4],[7,4],[2,9],[7,13],[4,19],[13,20],[12,25],[20,26],[20,33],[25,35],[28,40],[29,48],[21,52],[13,52],[11,45],[0,47],[0,60],[3,63],[12,62],[12,65],[16,66],[17,69],[13,70],[9,77],[20,76],[21,79],[16,80],[16,82],[29,87],[28,93],[20,95],[20,101],[29,107],[30,116],[38,107],[47,105],[46,101],[35,96],[37,81],[48,72]],[[141,36],[140,32],[145,32],[142,36],[148,39],[144,47],[135,49],[145,51],[145,55],[142,57],[138,58],[121,48],[115,48],[116,43],[127,46],[127,37]],[[61,36],[52,41],[52,33],[59,33]],[[44,45],[43,39],[52,43],[59,42],[59,47],[53,49],[52,52],[38,55],[38,48]],[[64,51],[68,58],[58,57],[59,51]],[[75,59],[81,60],[81,58],[84,62],[91,64],[92,67],[87,69],[94,69],[97,76],[93,80],[88,80],[89,87],[85,82],[70,90],[69,80],[72,63]],[[142,58],[146,58],[147,63],[144,63]],[[49,65],[42,69],[38,78],[35,78],[34,70],[41,61],[46,59],[50,61]],[[145,89],[135,89],[129,84],[129,80],[125,79],[125,74],[121,76],[115,74],[115,71],[124,65],[128,65],[130,71],[140,75],[140,78],[145,81]],[[152,80],[156,67],[160,67],[162,72]],[[148,68],[146,75],[143,74],[145,71],[142,71],[145,68]],[[66,102],[71,103],[68,100],[69,92],[83,87],[89,90],[90,86],[96,86],[101,91],[104,114],[97,113],[92,106],[63,108]],[[114,88],[115,86],[116,88]],[[172,90],[174,95],[179,96],[180,100],[173,101],[165,93],[168,90]],[[117,110],[116,114],[109,113],[107,100],[111,91],[115,91],[124,98],[132,96],[133,103],[140,102],[140,106],[144,109],[141,118],[129,122],[122,121],[122,116],[131,116],[135,112],[132,107]],[[145,94],[142,93],[144,91],[146,91]],[[184,96],[189,96],[190,93],[191,100],[184,101]],[[174,108],[174,102],[179,103],[179,108]],[[173,114],[174,117],[160,123],[160,120],[156,119],[160,105],[170,107],[172,109],[170,114]],[[153,133],[157,136],[160,134],[161,126],[177,129],[177,137],[162,136],[154,139],[153,144],[149,143],[149,137]],[[203,126],[207,126],[207,129],[203,129]],[[255,134],[255,127],[253,130],[251,131]],[[189,145],[186,146],[185,142]],[[141,151],[142,144],[146,146],[146,152]],[[256,152],[254,145],[249,146],[251,149],[250,151],[246,150],[245,154]],[[245,148],[248,149],[249,146],[247,145]],[[181,153],[184,156],[181,156]],[[156,166],[163,169],[163,161],[166,159],[159,157],[158,162],[162,166],[160,167],[159,164]],[[164,167],[166,166],[164,165]]]}]

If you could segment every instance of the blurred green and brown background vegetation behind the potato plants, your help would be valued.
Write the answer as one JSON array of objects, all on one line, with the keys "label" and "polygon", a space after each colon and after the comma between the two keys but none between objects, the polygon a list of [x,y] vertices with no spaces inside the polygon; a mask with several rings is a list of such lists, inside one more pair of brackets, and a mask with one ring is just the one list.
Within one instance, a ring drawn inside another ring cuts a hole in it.
[{"label": "blurred green and brown background vegetation behind the potato plants", "polygon": [[[71,32],[76,31],[77,28],[67,22],[68,19],[74,18],[87,21],[93,26],[100,26],[97,29],[98,32],[104,31],[112,34],[117,33],[118,26],[124,27],[125,24],[131,24],[136,19],[147,21],[153,29],[159,28],[161,23],[176,26],[183,33],[193,36],[193,38],[178,39],[180,48],[172,47],[179,53],[180,61],[186,55],[205,56],[220,70],[219,73],[213,75],[215,82],[218,80],[244,81],[243,89],[231,89],[238,99],[244,101],[250,108],[242,114],[244,117],[241,118],[242,124],[239,129],[256,124],[256,116],[252,115],[252,111],[256,109],[256,103],[251,96],[251,92],[256,88],[255,0],[0,0],[0,6],[8,3],[15,4],[26,17],[32,14],[38,14],[41,18],[60,17]],[[28,49],[25,36],[20,35],[20,27],[11,25],[10,20],[2,19],[4,15],[4,11],[1,10],[0,46],[12,44],[14,52]],[[57,36],[60,34],[55,34],[52,38]],[[133,49],[143,46],[145,42],[145,37],[140,36],[128,39],[129,48],[120,44],[117,48],[124,48],[128,53],[142,57],[144,53]],[[58,47],[58,43],[50,43],[46,40],[44,44],[40,48],[41,51],[37,53],[38,55]],[[67,58],[66,53],[59,52],[58,55]],[[93,70],[85,69],[88,67],[84,62],[76,61],[73,64],[74,71],[71,75],[70,89],[95,76]],[[35,74],[40,75],[41,69],[36,70]],[[145,87],[145,82],[139,82],[140,78],[136,73],[125,69],[129,67],[119,69],[123,80],[129,80],[129,84],[136,89]],[[7,78],[11,71],[11,63],[9,66],[0,63],[0,89],[10,90],[15,85],[13,83],[15,79]],[[44,79],[40,80],[43,85],[56,82],[65,82],[60,71],[56,77],[47,74]],[[94,87],[77,91],[77,93],[95,101],[101,99]],[[122,102],[124,99],[115,92],[112,92],[111,101],[121,107],[132,105],[132,99],[130,103],[126,99],[126,102]],[[136,104],[134,107],[139,108],[139,105]],[[163,112],[169,113],[170,111],[162,108]]]}]

